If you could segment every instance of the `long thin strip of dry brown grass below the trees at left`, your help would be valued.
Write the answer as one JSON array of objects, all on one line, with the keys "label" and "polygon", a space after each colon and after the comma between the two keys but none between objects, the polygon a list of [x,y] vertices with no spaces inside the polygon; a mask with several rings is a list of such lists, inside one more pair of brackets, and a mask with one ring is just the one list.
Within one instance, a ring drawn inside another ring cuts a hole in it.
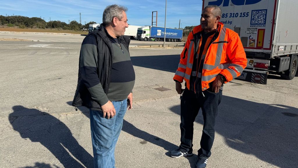
[{"label": "long thin strip of dry brown grass below the trees at left", "polygon": [[42,33],[70,33],[70,34],[88,34],[87,31],[72,31],[72,30],[51,30],[51,29],[20,29],[20,28],[0,28],[0,31],[14,32],[42,32]]}]

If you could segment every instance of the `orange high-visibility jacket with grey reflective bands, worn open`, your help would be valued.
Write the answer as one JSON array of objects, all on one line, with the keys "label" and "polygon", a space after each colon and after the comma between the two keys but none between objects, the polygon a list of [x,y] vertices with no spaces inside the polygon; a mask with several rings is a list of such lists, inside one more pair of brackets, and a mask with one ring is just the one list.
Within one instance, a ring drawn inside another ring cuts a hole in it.
[{"label": "orange high-visibility jacket with grey reflective bands, worn open", "polygon": [[[201,31],[203,29],[201,25],[198,25],[189,33],[185,47],[180,55],[178,69],[173,78],[180,83],[184,79],[188,89],[190,89],[193,57],[200,53],[202,45],[202,37],[200,36],[197,47],[198,51],[195,53],[194,35]],[[200,61],[204,61],[203,69],[201,72],[195,74],[197,77],[201,77],[202,91],[209,88],[208,84],[215,80],[218,74],[226,77],[225,83],[240,76],[247,63],[246,54],[238,34],[228,28],[224,28],[224,24],[221,22],[218,22],[216,33],[208,37],[201,60],[198,60],[198,66],[201,65]]]}]

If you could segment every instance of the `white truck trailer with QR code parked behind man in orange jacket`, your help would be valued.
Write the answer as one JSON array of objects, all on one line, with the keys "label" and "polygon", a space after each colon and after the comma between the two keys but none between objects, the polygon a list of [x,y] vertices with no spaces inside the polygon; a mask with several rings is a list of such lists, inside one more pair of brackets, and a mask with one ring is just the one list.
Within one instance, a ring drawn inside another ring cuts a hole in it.
[{"label": "white truck trailer with QR code parked behind man in orange jacket", "polygon": [[240,36],[248,62],[237,79],[266,84],[268,73],[298,76],[297,0],[203,0],[207,5],[219,6],[224,27]]}]

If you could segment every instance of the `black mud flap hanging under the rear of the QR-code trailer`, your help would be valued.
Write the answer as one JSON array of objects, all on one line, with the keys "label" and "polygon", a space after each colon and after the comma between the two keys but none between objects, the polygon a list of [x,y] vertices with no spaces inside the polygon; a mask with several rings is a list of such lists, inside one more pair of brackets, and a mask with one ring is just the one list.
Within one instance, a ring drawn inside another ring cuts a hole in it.
[{"label": "black mud flap hanging under the rear of the QR-code trailer", "polygon": [[246,82],[258,83],[258,84],[267,84],[268,71],[257,71],[244,69],[242,74],[237,77],[237,80],[243,80]]}]

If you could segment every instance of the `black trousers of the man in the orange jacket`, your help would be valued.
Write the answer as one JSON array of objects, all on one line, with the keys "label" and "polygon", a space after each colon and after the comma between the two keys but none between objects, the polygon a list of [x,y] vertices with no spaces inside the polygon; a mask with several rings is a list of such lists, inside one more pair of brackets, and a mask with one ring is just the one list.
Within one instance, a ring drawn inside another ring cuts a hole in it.
[{"label": "black trousers of the man in the orange jacket", "polygon": [[204,126],[198,158],[209,158],[211,155],[215,134],[215,118],[222,97],[221,90],[218,93],[208,90],[195,93],[185,88],[181,99],[181,144],[179,147],[184,152],[193,151],[193,122],[200,108],[202,109]]}]

